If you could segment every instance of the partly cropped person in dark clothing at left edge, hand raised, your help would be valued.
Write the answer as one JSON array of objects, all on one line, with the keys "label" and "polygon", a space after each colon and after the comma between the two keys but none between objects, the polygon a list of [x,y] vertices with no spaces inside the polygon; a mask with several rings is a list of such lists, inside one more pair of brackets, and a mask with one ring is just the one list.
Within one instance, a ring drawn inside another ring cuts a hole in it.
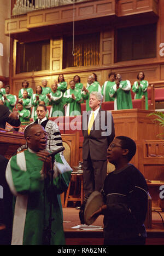
[{"label": "partly cropped person in dark clothing at left edge, hand raised", "polygon": [[9,108],[4,105],[0,105],[0,128],[5,129],[6,123],[11,124],[11,126],[20,126],[21,122],[19,120],[19,114],[16,110],[13,112],[9,111]]}]

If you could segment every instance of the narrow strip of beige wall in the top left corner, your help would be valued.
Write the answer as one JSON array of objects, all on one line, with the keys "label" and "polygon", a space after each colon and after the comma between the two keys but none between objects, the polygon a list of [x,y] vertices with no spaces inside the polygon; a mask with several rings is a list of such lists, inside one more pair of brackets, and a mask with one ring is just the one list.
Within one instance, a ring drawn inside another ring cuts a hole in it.
[{"label": "narrow strip of beige wall in the top left corner", "polygon": [[10,18],[10,0],[0,0],[0,43],[3,56],[0,56],[0,76],[9,77],[9,37],[4,35],[5,19]]}]

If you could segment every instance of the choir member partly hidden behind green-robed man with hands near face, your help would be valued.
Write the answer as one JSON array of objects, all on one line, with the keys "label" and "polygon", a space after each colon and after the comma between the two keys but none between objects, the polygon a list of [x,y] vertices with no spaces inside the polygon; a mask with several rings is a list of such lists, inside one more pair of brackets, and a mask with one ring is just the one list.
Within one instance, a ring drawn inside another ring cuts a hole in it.
[{"label": "choir member partly hidden behind green-robed man with hands near face", "polygon": [[103,101],[114,101],[114,98],[111,98],[109,95],[109,90],[115,84],[115,73],[110,72],[108,75],[109,80],[104,82],[101,90],[103,95]]}]

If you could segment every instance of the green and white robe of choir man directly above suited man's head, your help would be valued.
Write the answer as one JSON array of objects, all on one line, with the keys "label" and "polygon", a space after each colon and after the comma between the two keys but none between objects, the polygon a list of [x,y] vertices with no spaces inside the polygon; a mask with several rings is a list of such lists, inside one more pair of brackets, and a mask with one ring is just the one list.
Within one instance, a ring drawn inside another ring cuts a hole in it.
[{"label": "green and white robe of choir man directly above suited man's head", "polygon": [[99,92],[101,93],[101,86],[99,85],[98,82],[94,82],[92,84],[87,84],[87,87],[86,87],[87,90],[89,90],[89,93],[86,93],[86,92],[83,92],[81,94],[82,98],[84,100],[86,100],[86,111],[89,111],[91,110],[90,106],[89,106],[89,100],[90,100],[90,93],[91,92]]}]

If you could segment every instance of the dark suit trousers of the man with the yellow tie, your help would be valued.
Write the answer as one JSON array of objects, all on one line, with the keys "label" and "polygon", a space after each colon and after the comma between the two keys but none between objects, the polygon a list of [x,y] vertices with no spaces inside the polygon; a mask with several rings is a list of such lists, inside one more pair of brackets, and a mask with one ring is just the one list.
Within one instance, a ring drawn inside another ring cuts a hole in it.
[{"label": "dark suit trousers of the man with the yellow tie", "polygon": [[84,195],[89,196],[93,191],[101,191],[107,176],[107,161],[92,160],[90,155],[83,160]]}]

